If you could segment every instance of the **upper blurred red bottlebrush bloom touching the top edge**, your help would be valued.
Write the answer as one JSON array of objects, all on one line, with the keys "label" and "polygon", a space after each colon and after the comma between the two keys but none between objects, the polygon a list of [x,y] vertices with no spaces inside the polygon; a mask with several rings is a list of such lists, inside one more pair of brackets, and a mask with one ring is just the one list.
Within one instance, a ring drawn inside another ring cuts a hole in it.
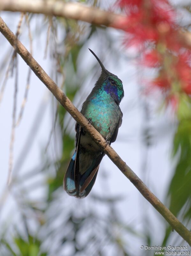
[{"label": "upper blurred red bottlebrush bloom touching the top edge", "polygon": [[173,11],[165,0],[121,0],[117,3],[126,11],[127,19],[115,26],[128,32],[127,40],[131,38],[131,45],[135,43],[136,47],[159,40],[160,31],[156,27],[159,23],[167,23],[169,28],[173,25]]}]

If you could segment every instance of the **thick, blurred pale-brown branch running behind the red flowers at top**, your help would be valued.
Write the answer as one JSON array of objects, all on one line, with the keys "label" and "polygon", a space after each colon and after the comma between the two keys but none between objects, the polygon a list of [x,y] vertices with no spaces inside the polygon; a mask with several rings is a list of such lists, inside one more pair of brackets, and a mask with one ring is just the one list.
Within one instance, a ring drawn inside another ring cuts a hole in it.
[{"label": "thick, blurred pale-brown branch running behind the red flowers at top", "polygon": [[[0,10],[11,12],[32,12],[42,13],[45,15],[54,15],[85,21],[95,25],[105,25],[120,29],[118,23],[121,23],[126,16],[107,12],[98,8],[85,6],[79,3],[64,3],[63,1],[53,0],[1,0]],[[180,30],[180,38],[191,47],[191,33]]]}]

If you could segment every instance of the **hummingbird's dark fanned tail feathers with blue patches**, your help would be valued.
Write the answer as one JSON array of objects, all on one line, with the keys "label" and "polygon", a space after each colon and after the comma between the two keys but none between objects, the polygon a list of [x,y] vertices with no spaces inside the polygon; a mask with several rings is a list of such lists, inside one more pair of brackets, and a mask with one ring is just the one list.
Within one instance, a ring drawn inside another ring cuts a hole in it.
[{"label": "hummingbird's dark fanned tail feathers with blue patches", "polygon": [[[83,198],[90,193],[95,183],[99,170],[99,164],[104,156],[104,153],[99,154],[98,157],[93,158],[92,156],[93,159],[91,161],[91,165],[88,166],[88,168],[82,174],[80,174],[80,169],[82,169],[81,162],[79,163],[79,169],[75,170],[76,156],[77,153],[75,151],[64,176],[63,186],[69,195]],[[75,175],[75,172],[77,172],[78,175]],[[79,177],[79,180],[76,182],[75,179],[77,177]],[[79,187],[77,188],[75,184],[79,184]]]}]

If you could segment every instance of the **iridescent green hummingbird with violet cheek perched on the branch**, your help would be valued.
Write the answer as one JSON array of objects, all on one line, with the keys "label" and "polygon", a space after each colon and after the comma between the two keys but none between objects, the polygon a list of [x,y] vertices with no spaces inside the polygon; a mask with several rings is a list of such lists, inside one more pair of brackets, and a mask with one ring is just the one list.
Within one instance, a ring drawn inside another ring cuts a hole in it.
[{"label": "iridescent green hummingbird with violet cheek perched on the branch", "polygon": [[[82,104],[81,113],[111,145],[117,138],[123,113],[119,104],[124,96],[122,81],[104,67],[97,55],[89,49],[101,66],[101,75],[92,92]],[[63,179],[64,190],[77,198],[86,197],[95,183],[105,153],[78,123],[76,149]]]}]

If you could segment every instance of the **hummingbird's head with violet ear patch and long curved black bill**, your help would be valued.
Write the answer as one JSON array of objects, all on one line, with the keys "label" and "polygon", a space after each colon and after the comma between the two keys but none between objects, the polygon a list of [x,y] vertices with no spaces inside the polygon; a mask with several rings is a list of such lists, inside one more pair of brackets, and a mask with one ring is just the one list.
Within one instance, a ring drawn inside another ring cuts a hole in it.
[{"label": "hummingbird's head with violet ear patch and long curved black bill", "polygon": [[114,101],[119,105],[123,96],[123,84],[121,79],[119,79],[116,75],[110,73],[103,65],[103,63],[99,60],[98,56],[89,49],[90,52],[96,57],[99,65],[101,66],[101,75],[96,83],[99,85],[104,91],[111,95]]}]

